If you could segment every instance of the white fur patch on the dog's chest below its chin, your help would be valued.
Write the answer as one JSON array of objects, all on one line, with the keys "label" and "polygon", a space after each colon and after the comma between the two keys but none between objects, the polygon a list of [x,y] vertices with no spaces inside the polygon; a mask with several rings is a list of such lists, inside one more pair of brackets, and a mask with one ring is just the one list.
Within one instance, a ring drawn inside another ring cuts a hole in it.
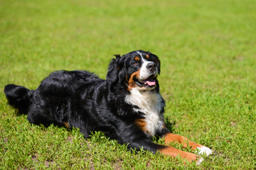
[{"label": "white fur patch on the dog's chest below its chin", "polygon": [[160,94],[155,91],[139,91],[136,88],[131,89],[130,92],[126,102],[139,107],[134,111],[144,113],[146,131],[153,137],[156,130],[160,130],[164,125],[164,115],[160,113],[163,107]]}]

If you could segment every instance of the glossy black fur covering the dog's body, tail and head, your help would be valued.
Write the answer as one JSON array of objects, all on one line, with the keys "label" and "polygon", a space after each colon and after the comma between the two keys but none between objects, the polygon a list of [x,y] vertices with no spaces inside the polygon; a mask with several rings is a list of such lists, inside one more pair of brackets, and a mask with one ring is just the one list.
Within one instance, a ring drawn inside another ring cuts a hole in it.
[{"label": "glossy black fur covering the dog's body, tail and head", "polygon": [[[160,74],[160,62],[156,55],[149,55]],[[112,59],[107,72],[107,80],[99,79],[95,74],[86,71],[58,71],[44,79],[38,89],[30,91],[23,86],[9,84],[4,93],[9,104],[18,111],[28,114],[28,121],[36,125],[64,125],[80,128],[85,137],[91,132],[102,131],[120,144],[126,143],[129,148],[147,149],[156,152],[164,148],[151,141],[151,136],[135,123],[144,118],[144,113],[134,111],[133,106],[125,101],[130,91],[127,80],[136,72],[141,64],[134,64],[137,52]],[[159,84],[151,90],[159,93]],[[164,102],[162,99],[161,102]],[[164,105],[161,109],[164,114]],[[156,135],[169,132],[166,128],[157,130]]]}]

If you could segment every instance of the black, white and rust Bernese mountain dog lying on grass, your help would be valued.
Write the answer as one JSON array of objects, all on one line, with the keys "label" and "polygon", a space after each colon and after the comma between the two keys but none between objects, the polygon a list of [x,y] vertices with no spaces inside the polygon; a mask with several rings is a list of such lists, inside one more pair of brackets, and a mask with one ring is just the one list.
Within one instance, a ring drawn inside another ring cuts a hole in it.
[{"label": "black, white and rust Bernese mountain dog lying on grass", "polygon": [[[51,73],[36,90],[8,84],[4,93],[11,106],[28,114],[30,123],[79,128],[85,138],[102,131],[128,149],[142,148],[201,164],[203,158],[197,154],[168,145],[178,142],[183,147],[198,149],[198,154],[212,154],[208,147],[174,135],[166,128],[159,74],[159,58],[138,50],[122,57],[115,55],[106,79],[87,71],[62,70]],[[152,142],[155,135],[163,137],[166,145]]]}]

